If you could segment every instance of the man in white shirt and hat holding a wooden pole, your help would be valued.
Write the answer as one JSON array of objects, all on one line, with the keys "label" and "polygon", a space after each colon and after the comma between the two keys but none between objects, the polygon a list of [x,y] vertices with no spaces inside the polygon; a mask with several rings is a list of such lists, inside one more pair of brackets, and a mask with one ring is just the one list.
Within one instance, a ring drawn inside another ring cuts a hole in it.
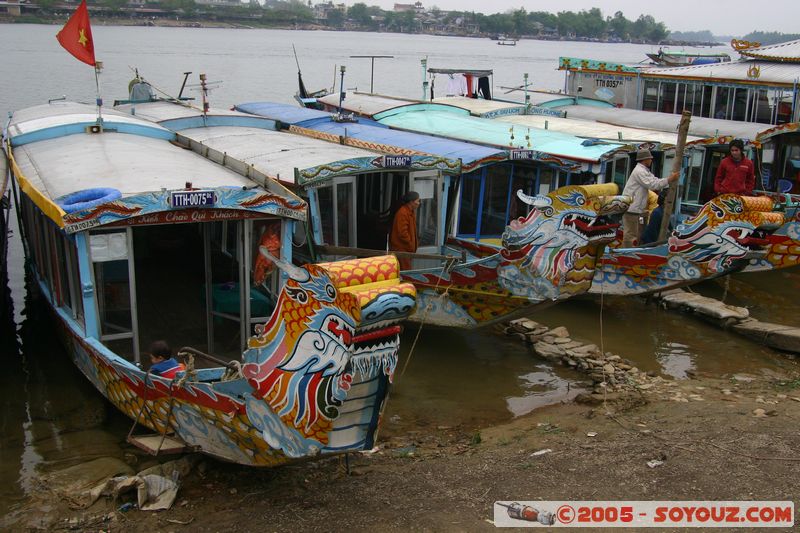
[{"label": "man in white shirt and hat holding a wooden pole", "polygon": [[622,247],[631,248],[639,244],[642,232],[647,227],[650,213],[647,211],[648,191],[660,191],[670,183],[678,181],[680,174],[673,172],[667,178],[658,178],[650,172],[653,156],[650,150],[636,152],[636,168],[633,169],[625,183],[623,195],[633,198],[628,211],[622,215]]}]

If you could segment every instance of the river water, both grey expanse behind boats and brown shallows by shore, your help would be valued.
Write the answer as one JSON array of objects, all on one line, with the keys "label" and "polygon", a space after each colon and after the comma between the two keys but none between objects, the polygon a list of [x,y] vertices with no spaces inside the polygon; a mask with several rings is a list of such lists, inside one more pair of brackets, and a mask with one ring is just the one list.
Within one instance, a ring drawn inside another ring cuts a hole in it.
[{"label": "river water, both grey expanse behind boats and brown shallows by shore", "polygon": [[[58,28],[0,26],[0,111],[46,103],[65,95],[93,101],[93,70],[63,51]],[[638,62],[656,47],[630,44],[520,41],[497,46],[488,39],[399,34],[233,30],[203,28],[93,28],[96,55],[105,69],[99,86],[106,102],[124,97],[133,68],[175,95],[182,73],[200,72],[215,88],[212,106],[270,100],[292,102],[297,66],[309,89],[329,87],[346,66],[346,88],[369,90],[370,62],[351,55],[391,55],[375,62],[374,90],[421,95],[420,60],[440,68],[493,69],[494,94],[518,86],[527,72],[535,88],[558,89],[559,56]],[[193,93],[189,89],[189,95]],[[194,93],[196,95],[197,93]],[[0,329],[5,371],[0,374],[0,516],[35,488],[38,474],[103,455],[121,457],[130,421],[112,409],[72,367],[53,335],[47,310],[25,285],[22,244],[9,243],[8,290],[14,323]],[[800,326],[800,271],[735,276],[697,290],[725,295],[750,307],[756,318]],[[668,313],[639,299],[568,301],[534,317],[566,326],[578,340],[619,353],[644,370],[681,379],[687,372],[768,374],[793,360],[689,316]],[[581,376],[532,356],[519,341],[486,331],[423,328],[404,334],[396,387],[384,416],[384,434],[411,428],[460,426],[472,430],[558,402],[580,390]],[[406,363],[408,363],[406,365]],[[403,372],[403,368],[405,371]],[[2,521],[0,520],[0,523]]]}]

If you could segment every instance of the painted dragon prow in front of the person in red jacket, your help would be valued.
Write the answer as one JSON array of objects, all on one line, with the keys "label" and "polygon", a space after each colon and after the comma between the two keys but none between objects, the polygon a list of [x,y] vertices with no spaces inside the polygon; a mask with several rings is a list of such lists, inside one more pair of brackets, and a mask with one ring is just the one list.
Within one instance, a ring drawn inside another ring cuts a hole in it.
[{"label": "painted dragon prow in front of the person in red jacket", "polygon": [[[765,258],[788,249],[776,230],[796,231],[766,196],[720,195],[671,232],[666,242],[636,248],[609,248],[599,261],[589,292],[650,294],[764,266]],[[770,255],[774,246],[775,251]],[[795,258],[796,261],[796,258]],[[767,263],[769,268],[772,263]]]}]

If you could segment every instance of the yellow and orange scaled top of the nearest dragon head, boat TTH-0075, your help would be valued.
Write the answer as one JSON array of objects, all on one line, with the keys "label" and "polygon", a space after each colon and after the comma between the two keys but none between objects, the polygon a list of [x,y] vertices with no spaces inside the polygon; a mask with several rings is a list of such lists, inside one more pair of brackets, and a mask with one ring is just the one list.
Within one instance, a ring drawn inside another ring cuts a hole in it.
[{"label": "yellow and orange scaled top of the nearest dragon head, boat TTH-0075", "polygon": [[362,309],[389,292],[416,295],[414,285],[400,280],[400,264],[393,255],[320,263],[320,266],[337,289],[358,298]]}]

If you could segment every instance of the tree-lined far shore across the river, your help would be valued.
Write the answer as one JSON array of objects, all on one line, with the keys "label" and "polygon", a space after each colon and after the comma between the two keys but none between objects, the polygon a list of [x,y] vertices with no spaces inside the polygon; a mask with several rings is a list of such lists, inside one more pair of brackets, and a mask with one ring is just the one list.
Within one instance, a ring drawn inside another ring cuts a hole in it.
[{"label": "tree-lined far shore across the river", "polygon": [[[528,12],[524,8],[485,15],[466,11],[444,11],[421,3],[397,4],[400,11],[385,11],[358,2],[352,6],[333,2],[313,4],[311,0],[256,0],[240,3],[224,0],[213,4],[194,0],[148,1],[129,4],[128,0],[88,0],[92,17],[110,24],[142,25],[232,25],[238,27],[385,31],[435,35],[537,38],[553,40],[591,40],[634,43],[714,44],[740,37],[762,44],[800,38],[800,35],[756,31],[744,36],[715,37],[710,31],[671,32],[651,15],[636,20],[621,11],[604,15],[599,8],[589,10]],[[22,4],[21,13],[0,13],[3,22],[60,22],[75,8],[61,0],[32,0]]]}]

